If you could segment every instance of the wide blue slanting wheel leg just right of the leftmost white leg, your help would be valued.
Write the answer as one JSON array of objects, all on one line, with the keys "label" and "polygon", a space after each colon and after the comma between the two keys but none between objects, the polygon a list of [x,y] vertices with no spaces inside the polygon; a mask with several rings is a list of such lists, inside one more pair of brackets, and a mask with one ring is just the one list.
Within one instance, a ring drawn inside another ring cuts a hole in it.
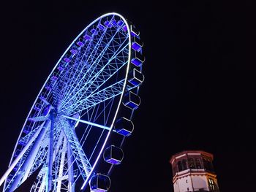
[{"label": "wide blue slanting wheel leg just right of the leftmost white leg", "polygon": [[[48,121],[45,124],[47,126]],[[26,178],[29,176],[31,166],[33,166],[32,163],[33,163],[34,158],[37,155],[37,151],[39,150],[39,147],[40,147],[39,144],[40,144],[40,142],[42,141],[42,138],[45,135],[45,126],[43,126],[43,127],[44,128],[41,129],[36,141],[34,142],[33,147],[29,151],[29,155],[26,157],[26,160],[24,161],[24,163],[20,167],[20,170],[17,173],[17,176],[15,177],[15,180],[12,183],[12,187],[10,188],[10,191],[14,191],[18,187],[18,185],[20,185],[20,183],[23,183],[23,181],[25,181]],[[21,179],[22,179],[22,181],[20,182]]]}]

